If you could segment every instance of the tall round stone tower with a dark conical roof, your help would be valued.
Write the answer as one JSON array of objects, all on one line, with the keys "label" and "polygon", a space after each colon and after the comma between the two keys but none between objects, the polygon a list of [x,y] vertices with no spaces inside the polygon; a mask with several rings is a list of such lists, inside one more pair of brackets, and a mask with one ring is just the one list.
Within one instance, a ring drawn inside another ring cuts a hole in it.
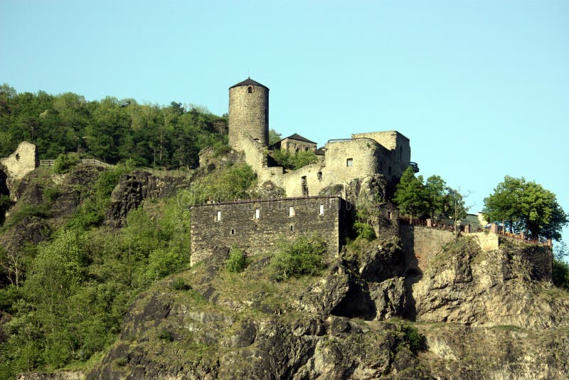
[{"label": "tall round stone tower with a dark conical roof", "polygon": [[248,136],[269,144],[269,88],[251,78],[229,88],[229,145],[243,150]]}]

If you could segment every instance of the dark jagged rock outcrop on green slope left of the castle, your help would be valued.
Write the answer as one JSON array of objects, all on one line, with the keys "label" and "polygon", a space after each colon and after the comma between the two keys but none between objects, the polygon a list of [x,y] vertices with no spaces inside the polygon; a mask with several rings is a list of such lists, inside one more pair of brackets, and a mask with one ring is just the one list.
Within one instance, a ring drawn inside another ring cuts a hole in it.
[{"label": "dark jagged rock outcrop on green slope left of the castle", "polygon": [[112,191],[107,224],[115,228],[122,227],[129,211],[140,206],[144,199],[171,196],[186,186],[189,186],[189,182],[181,176],[155,176],[149,171],[125,174]]}]

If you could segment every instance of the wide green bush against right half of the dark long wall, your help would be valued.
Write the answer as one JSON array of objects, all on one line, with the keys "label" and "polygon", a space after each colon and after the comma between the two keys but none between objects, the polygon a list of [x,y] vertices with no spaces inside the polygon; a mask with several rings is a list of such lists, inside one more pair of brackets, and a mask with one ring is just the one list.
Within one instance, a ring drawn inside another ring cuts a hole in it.
[{"label": "wide green bush against right half of the dark long wall", "polygon": [[281,243],[271,260],[274,278],[284,280],[302,275],[317,275],[326,267],[325,255],[326,243],[314,234]]}]

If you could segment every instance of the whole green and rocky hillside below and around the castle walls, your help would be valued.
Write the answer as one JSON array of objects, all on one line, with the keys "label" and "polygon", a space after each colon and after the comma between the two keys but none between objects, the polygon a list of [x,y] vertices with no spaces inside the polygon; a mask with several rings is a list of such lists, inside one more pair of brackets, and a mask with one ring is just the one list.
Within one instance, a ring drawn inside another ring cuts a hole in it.
[{"label": "whole green and rocky hillside below and around the castle walls", "polygon": [[[523,258],[461,238],[415,270],[405,241],[358,238],[317,275],[275,276],[272,255],[228,273],[190,268],[187,205],[257,197],[239,154],[187,176],[38,168],[0,235],[1,376],[555,379],[568,373],[569,295]],[[416,234],[415,234],[416,235]],[[533,252],[535,253],[535,252]],[[412,270],[413,269],[413,270]],[[23,283],[23,285],[22,285]],[[33,375],[36,376],[36,375]],[[63,376],[63,374],[61,375]],[[26,377],[36,379],[37,377]]]}]

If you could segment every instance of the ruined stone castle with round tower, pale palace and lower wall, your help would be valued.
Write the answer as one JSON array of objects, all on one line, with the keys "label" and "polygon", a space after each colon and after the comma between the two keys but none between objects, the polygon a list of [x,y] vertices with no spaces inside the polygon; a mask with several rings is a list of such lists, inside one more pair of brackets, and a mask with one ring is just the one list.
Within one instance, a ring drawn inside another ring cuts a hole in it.
[{"label": "ruined stone castle with round tower, pale palace and lower wall", "polygon": [[[410,166],[418,171],[410,161],[409,139],[397,131],[355,133],[349,139],[329,140],[321,149],[292,134],[269,147],[269,88],[251,78],[229,88],[228,133],[230,147],[243,152],[260,186],[270,181],[284,190],[285,198],[192,206],[192,265],[219,249],[267,252],[278,241],[303,233],[318,233],[329,253],[337,254],[353,223],[353,205],[346,201],[353,181],[369,184],[383,176],[395,182]],[[273,149],[313,150],[317,162],[285,170],[270,164],[267,156]],[[383,203],[374,210],[376,235],[397,234],[397,208]]]}]

